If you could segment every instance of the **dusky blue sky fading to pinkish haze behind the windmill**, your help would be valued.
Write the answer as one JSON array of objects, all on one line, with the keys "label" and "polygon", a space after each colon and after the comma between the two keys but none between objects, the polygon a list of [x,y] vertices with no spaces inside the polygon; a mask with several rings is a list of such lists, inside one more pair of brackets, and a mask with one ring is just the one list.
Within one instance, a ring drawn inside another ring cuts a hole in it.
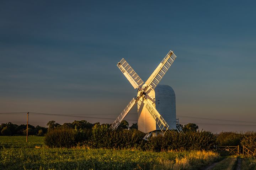
[{"label": "dusky blue sky fading to pinkish haze behind the windmill", "polygon": [[[0,112],[116,118],[136,95],[117,62],[124,57],[145,81],[173,50],[177,59],[161,84],[175,90],[177,115],[256,121],[255,6],[234,0],[1,1]],[[136,118],[133,109],[127,119]],[[30,123],[75,119],[31,115]],[[8,121],[23,124],[26,116],[0,115],[0,123]]]}]

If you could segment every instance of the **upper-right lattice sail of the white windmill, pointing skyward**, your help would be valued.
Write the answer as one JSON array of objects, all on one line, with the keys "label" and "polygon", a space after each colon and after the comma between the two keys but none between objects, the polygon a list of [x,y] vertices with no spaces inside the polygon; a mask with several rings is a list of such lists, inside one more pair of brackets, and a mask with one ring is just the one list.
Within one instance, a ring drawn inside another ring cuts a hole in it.
[{"label": "upper-right lattice sail of the white windmill, pointing skyward", "polygon": [[151,74],[145,84],[154,90],[158,83],[161,81],[162,77],[164,77],[167,70],[170,68],[171,64],[174,62],[175,58],[176,56],[173,51],[169,51],[169,53],[167,53],[165,58],[161,61],[159,66]]}]

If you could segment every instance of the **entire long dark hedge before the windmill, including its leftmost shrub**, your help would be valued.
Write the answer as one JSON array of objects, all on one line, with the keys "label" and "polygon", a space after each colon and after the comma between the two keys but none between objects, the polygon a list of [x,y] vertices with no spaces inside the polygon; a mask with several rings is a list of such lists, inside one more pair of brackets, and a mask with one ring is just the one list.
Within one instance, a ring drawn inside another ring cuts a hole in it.
[{"label": "entire long dark hedge before the windmill, including its leftmost shrub", "polygon": [[53,129],[45,136],[49,147],[73,147],[84,145],[90,148],[140,149],[148,151],[209,150],[216,145],[216,137],[208,131],[178,133],[168,131],[164,136],[143,140],[144,133],[137,129],[111,130],[109,124],[95,124],[92,130]]}]

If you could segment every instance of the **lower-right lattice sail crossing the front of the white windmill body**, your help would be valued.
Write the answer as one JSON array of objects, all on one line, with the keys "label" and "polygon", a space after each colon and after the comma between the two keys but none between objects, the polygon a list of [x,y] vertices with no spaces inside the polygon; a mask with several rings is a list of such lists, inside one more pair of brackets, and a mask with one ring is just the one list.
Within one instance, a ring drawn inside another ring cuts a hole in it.
[{"label": "lower-right lattice sail crossing the front of the white windmill body", "polygon": [[165,132],[168,130],[169,125],[166,123],[166,121],[164,120],[164,118],[162,118],[162,116],[158,113],[158,111],[156,110],[156,108],[153,106],[153,104],[151,104],[151,101],[149,101],[148,99],[146,99],[146,109],[148,109],[149,113],[151,114],[151,116],[155,119],[156,124],[159,126],[159,128],[161,129],[162,133],[165,134]]}]

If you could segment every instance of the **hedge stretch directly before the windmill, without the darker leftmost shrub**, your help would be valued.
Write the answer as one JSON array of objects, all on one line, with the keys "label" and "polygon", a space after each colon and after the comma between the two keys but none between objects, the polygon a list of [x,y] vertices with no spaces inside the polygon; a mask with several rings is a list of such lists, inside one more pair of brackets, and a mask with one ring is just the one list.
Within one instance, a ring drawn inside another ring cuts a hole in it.
[{"label": "hedge stretch directly before the windmill, without the darker leftmost shrub", "polygon": [[209,131],[179,133],[168,131],[164,136],[143,140],[145,134],[138,130],[110,130],[109,125],[96,125],[88,142],[93,148],[137,148],[148,151],[209,150],[217,144],[217,138]]}]

